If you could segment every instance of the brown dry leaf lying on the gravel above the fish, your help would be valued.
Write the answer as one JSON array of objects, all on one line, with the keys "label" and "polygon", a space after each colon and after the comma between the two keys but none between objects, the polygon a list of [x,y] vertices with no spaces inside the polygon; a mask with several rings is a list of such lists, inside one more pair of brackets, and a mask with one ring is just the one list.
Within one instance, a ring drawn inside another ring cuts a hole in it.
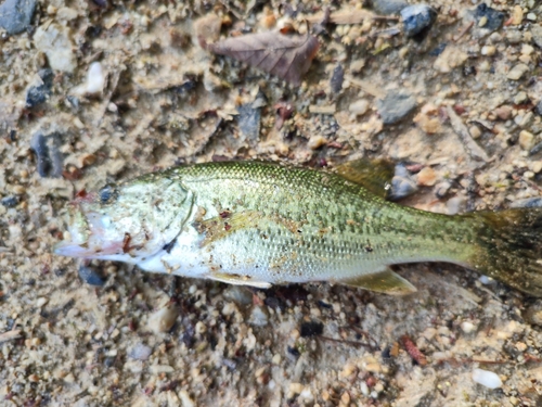
[{"label": "brown dry leaf lying on the gravel above the fish", "polygon": [[319,46],[318,39],[310,35],[284,36],[280,33],[261,33],[228,38],[207,44],[207,49],[299,86],[302,75],[309,71]]}]

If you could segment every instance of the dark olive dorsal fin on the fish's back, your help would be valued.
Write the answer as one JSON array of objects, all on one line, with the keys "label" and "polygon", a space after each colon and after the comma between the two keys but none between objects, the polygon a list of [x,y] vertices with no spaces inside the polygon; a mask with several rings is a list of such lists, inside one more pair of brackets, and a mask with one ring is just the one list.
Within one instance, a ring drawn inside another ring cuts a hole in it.
[{"label": "dark olive dorsal fin on the fish's back", "polygon": [[385,158],[360,158],[336,167],[336,173],[380,198],[388,198],[391,190],[395,165]]}]

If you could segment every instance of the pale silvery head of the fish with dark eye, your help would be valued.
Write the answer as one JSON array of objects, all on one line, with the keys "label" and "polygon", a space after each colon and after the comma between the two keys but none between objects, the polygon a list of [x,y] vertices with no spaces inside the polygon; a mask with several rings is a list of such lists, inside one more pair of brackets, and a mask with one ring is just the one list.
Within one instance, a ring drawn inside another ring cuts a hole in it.
[{"label": "pale silvery head of the fish with dark eye", "polygon": [[138,263],[177,238],[192,204],[179,180],[159,174],[81,193],[67,207],[68,233],[54,252]]}]

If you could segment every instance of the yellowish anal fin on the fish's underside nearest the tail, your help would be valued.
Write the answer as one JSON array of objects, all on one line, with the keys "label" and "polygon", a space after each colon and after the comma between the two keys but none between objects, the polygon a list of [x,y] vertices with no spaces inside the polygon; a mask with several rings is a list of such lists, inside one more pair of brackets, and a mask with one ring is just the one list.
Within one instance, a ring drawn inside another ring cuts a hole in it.
[{"label": "yellowish anal fin on the fish's underside nearest the tail", "polygon": [[389,295],[406,295],[417,291],[408,280],[390,269],[338,282]]}]

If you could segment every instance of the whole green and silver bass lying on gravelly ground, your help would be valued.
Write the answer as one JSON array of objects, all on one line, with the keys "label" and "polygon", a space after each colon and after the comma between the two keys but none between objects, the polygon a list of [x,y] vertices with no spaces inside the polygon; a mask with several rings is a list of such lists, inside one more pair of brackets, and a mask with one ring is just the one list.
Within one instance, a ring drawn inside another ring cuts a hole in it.
[{"label": "whole green and silver bass lying on gravelly ground", "polygon": [[391,202],[392,167],[270,162],[172,167],[80,193],[62,256],[231,284],[327,281],[404,295],[393,265],[446,262],[542,297],[542,209],[444,215]]}]

